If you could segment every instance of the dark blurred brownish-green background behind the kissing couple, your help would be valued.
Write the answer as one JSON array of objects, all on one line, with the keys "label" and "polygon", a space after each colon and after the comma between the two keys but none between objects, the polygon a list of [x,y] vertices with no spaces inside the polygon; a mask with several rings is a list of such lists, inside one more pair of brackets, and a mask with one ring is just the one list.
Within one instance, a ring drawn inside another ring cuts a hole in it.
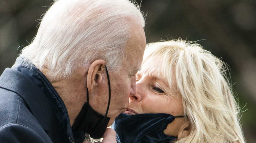
[{"label": "dark blurred brownish-green background behind the kissing couple", "polygon": [[[31,43],[53,0],[0,0],[0,74]],[[229,65],[248,143],[256,142],[256,0],[137,0],[147,43],[197,41]],[[1,99],[0,99],[1,100]]]}]

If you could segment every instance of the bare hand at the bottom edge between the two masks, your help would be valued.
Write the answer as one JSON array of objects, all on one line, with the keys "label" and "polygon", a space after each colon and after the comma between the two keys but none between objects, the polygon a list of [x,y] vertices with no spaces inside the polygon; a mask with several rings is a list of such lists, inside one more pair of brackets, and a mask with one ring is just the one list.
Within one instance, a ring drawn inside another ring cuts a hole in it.
[{"label": "bare hand at the bottom edge between the two masks", "polygon": [[[102,142],[98,141],[96,143],[117,143],[116,137],[117,137],[116,131],[111,128],[107,128],[102,137],[103,138]],[[85,141],[83,143],[91,143],[91,142]]]}]

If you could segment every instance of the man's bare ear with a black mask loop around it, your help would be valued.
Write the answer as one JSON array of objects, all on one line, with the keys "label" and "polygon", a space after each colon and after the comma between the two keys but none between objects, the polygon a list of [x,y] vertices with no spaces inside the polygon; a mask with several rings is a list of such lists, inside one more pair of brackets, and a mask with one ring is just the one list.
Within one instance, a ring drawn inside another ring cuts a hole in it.
[{"label": "man's bare ear with a black mask loop around it", "polygon": [[102,74],[105,66],[106,62],[101,59],[94,61],[90,65],[87,74],[87,88],[90,93],[93,92],[93,87],[97,86],[98,83],[102,81]]}]

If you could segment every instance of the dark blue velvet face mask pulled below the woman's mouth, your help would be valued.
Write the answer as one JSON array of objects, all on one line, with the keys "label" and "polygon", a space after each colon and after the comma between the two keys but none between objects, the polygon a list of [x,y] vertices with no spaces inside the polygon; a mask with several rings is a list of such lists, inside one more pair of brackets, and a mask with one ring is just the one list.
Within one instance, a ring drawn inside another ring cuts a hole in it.
[{"label": "dark blue velvet face mask pulled below the woman's mouth", "polygon": [[112,124],[117,133],[118,143],[171,143],[177,138],[164,134],[167,125],[175,118],[170,114],[136,114],[121,113]]}]

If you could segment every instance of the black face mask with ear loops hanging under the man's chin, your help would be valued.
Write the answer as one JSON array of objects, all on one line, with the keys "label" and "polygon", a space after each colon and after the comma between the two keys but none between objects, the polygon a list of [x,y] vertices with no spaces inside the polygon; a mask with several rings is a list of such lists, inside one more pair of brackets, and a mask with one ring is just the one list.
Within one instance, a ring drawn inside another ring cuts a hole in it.
[{"label": "black face mask with ear loops hanging under the man's chin", "polygon": [[87,88],[87,102],[84,103],[81,111],[77,115],[75,122],[72,126],[74,138],[81,134],[83,135],[90,134],[92,138],[100,139],[103,136],[104,132],[106,131],[108,122],[110,120],[110,118],[107,117],[107,115],[108,115],[108,109],[109,109],[110,98],[111,98],[110,81],[109,81],[107,67],[106,67],[106,73],[107,73],[108,86],[109,86],[109,100],[108,100],[108,107],[107,107],[106,114],[105,116],[103,116],[91,108],[89,104],[89,92]]}]

